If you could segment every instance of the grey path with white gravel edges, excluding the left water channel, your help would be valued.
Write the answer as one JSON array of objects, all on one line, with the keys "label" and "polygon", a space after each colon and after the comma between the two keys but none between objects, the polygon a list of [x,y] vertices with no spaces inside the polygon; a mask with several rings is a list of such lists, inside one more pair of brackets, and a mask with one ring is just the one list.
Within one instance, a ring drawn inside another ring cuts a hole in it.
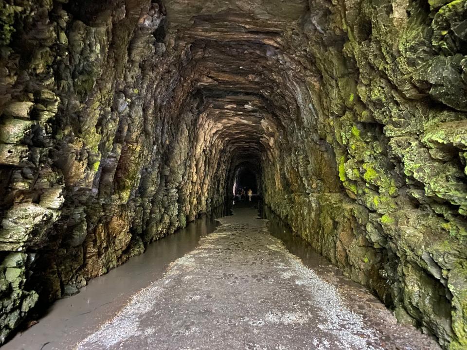
[{"label": "grey path with white gravel edges, excluding the left water channel", "polygon": [[115,317],[44,349],[439,349],[303,241],[292,255],[257,210],[218,220]]}]

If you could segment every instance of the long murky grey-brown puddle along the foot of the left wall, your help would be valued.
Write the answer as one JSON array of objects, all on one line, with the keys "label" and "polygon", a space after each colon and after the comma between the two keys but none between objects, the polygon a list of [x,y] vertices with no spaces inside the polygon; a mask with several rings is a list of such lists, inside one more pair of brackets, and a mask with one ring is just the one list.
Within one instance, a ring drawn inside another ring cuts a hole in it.
[{"label": "long murky grey-brown puddle along the foot of the left wall", "polygon": [[201,237],[214,231],[219,225],[214,218],[229,212],[228,206],[221,206],[210,216],[200,217],[187,227],[148,245],[143,254],[90,280],[79,294],[57,300],[39,323],[18,333],[1,349],[72,349],[119,311],[134,293],[160,279],[170,262],[192,251]]}]

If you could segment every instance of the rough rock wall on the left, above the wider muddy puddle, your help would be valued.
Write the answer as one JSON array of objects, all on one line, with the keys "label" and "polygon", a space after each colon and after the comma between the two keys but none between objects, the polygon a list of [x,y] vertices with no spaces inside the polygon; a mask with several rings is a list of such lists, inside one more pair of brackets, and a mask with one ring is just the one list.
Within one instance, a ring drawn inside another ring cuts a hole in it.
[{"label": "rough rock wall on the left, above the wider muddy puddle", "polygon": [[222,204],[229,153],[158,2],[2,1],[0,20],[3,341],[39,297]]}]

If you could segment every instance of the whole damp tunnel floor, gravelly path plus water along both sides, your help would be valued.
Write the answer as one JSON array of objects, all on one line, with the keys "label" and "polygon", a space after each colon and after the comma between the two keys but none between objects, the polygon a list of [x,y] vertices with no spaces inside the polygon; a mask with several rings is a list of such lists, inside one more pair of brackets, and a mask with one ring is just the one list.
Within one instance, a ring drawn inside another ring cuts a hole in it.
[{"label": "whole damp tunnel floor, gravelly path plus water along both sides", "polygon": [[153,243],[2,349],[440,349],[254,206]]}]

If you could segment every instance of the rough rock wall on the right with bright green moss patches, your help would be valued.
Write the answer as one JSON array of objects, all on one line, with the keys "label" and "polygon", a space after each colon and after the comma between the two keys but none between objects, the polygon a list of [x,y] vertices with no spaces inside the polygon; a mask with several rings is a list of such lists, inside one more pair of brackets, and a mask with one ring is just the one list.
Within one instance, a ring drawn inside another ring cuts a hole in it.
[{"label": "rough rock wall on the right with bright green moss patches", "polygon": [[270,141],[265,201],[400,320],[466,349],[467,2],[309,6],[285,51],[313,69],[283,78],[299,117]]}]

